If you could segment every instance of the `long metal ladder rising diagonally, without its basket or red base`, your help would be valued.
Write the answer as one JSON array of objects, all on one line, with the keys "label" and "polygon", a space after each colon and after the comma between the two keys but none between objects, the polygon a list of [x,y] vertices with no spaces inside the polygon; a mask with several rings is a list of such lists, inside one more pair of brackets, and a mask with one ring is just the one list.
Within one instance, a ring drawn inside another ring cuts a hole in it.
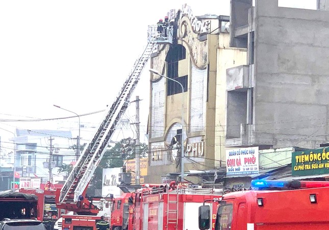
[{"label": "long metal ladder rising diagonally, without its basket or red base", "polygon": [[60,203],[70,204],[82,199],[79,196],[85,191],[99,161],[102,159],[115,127],[128,107],[130,96],[136,88],[141,72],[156,44],[156,35],[148,34],[148,43],[143,54],[136,60],[129,78],[124,82],[119,95],[108,109],[103,122],[91,142],[84,148],[61,189]]}]

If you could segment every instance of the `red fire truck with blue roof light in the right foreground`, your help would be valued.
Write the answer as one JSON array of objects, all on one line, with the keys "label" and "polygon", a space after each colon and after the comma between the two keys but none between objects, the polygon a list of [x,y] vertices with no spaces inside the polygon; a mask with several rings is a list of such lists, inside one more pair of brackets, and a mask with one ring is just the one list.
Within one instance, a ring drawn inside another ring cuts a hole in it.
[{"label": "red fire truck with blue roof light in the right foreground", "polygon": [[217,214],[209,206],[199,207],[199,229],[300,230],[329,229],[329,182],[251,181],[252,190],[224,194]]}]

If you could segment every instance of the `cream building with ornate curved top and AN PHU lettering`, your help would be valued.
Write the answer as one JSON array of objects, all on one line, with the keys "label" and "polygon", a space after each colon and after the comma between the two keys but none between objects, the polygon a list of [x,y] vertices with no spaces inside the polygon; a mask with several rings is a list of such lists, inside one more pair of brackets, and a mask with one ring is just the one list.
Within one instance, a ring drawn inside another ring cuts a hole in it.
[{"label": "cream building with ornate curved top and AN PHU lettering", "polygon": [[187,5],[168,16],[172,43],[151,55],[151,68],[166,78],[151,73],[147,183],[161,182],[166,173],[180,175],[182,159],[185,172],[221,166],[226,68],[246,60],[245,48],[230,47],[228,16],[194,16]]}]

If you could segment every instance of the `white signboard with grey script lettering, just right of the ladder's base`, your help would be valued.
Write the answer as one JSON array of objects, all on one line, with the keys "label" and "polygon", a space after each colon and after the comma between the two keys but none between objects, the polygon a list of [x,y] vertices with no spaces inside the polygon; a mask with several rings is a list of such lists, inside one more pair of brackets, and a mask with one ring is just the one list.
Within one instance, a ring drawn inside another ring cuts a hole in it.
[{"label": "white signboard with grey script lettering, just right of the ladder's base", "polygon": [[119,182],[119,173],[122,172],[122,168],[104,168],[103,180],[102,180],[102,196],[113,194],[114,197],[121,195],[120,188],[117,185]]}]

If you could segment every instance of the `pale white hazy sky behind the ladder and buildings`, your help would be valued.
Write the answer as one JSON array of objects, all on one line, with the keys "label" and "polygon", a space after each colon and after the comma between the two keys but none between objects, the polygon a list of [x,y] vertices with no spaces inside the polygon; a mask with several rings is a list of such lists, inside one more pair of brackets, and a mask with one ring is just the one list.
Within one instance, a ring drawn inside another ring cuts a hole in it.
[{"label": "pale white hazy sky behind the ladder and buildings", "polygon": [[[290,6],[315,7],[315,0],[279,0]],[[194,15],[229,15],[230,0],[218,1],[1,1],[0,120],[73,116],[112,105],[135,60],[147,44],[147,25],[170,9],[191,6]],[[287,5],[285,5],[287,6]],[[141,131],[146,130],[149,72],[145,67],[131,100],[139,95]],[[146,89],[146,90],[145,90]],[[127,118],[135,116],[135,104]],[[82,116],[97,126],[104,114]],[[74,129],[75,126],[75,129]],[[5,122],[0,128],[72,129],[65,121]],[[83,133],[82,138],[88,134]],[[2,141],[12,134],[0,129]]]}]

